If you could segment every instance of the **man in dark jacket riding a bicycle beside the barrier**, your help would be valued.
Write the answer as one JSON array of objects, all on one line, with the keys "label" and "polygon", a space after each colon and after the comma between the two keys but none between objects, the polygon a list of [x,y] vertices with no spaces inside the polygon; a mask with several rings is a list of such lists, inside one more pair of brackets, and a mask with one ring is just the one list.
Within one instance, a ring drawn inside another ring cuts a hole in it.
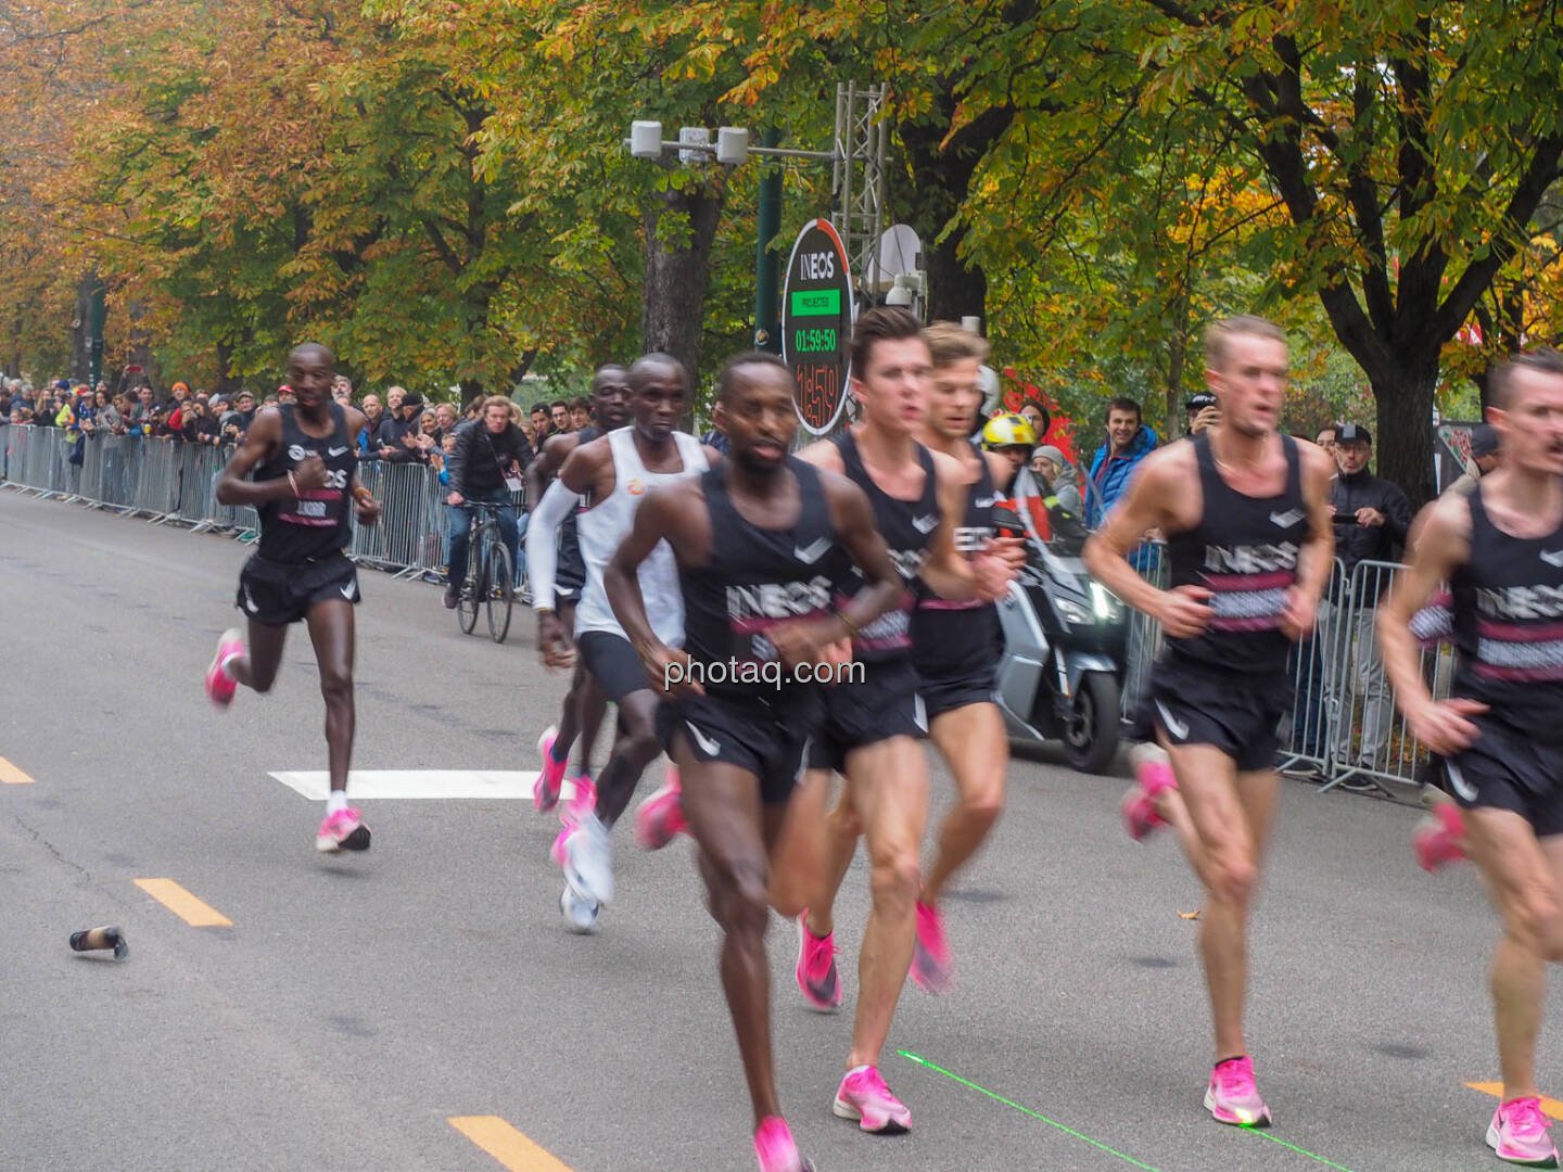
[{"label": "man in dark jacket riding a bicycle beside the barrier", "polygon": [[520,564],[520,541],[516,531],[516,509],[510,508],[511,492],[522,486],[520,469],[531,459],[527,433],[510,419],[510,400],[492,395],[483,400],[483,416],[456,428],[456,444],[445,463],[450,480],[450,506],[445,522],[445,609],[461,602],[461,583],[467,578],[467,544],[472,538],[469,500],[505,505],[499,511],[499,531],[510,550],[510,564]]}]

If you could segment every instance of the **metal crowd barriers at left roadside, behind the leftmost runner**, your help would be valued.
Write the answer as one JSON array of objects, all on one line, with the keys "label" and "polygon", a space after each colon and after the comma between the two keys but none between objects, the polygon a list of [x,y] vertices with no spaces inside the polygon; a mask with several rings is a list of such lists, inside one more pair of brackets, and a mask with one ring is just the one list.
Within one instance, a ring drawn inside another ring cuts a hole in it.
[{"label": "metal crowd barriers at left roadside, behind the leftmost runner", "polygon": [[[81,463],[70,455],[81,444]],[[81,502],[150,523],[259,536],[253,508],[217,503],[231,445],[147,436],[78,438],[59,428],[0,423],[0,480],[23,495]],[[380,523],[353,523],[349,556],[402,575],[444,569],[444,489],[425,464],[364,461],[359,480],[381,502]]]}]

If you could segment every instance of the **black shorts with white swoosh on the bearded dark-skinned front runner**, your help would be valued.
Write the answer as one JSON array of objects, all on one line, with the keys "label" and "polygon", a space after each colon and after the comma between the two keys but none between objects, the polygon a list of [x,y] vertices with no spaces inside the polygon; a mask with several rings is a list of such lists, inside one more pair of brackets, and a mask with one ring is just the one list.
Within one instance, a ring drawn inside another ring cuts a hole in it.
[{"label": "black shorts with white swoosh on the bearded dark-skinned front runner", "polygon": [[[789,694],[785,703],[764,695],[680,695],[658,705],[656,736],[672,756],[683,733],[696,761],[725,761],[760,778],[767,806],[786,805],[807,767],[810,739],[824,719],[817,689]],[[685,781],[689,786],[689,781]]]}]

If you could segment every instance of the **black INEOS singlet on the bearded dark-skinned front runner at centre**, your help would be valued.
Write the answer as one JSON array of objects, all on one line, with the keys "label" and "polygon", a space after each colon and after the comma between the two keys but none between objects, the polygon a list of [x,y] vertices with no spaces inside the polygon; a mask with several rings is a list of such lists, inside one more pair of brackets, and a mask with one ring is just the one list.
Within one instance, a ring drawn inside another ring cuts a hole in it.
[{"label": "black INEOS singlet on the bearded dark-skinned front runner at centre", "polygon": [[[685,605],[685,650],[702,664],[775,663],[766,633],[799,619],[832,614],[835,581],[846,553],[836,544],[830,505],[819,469],[788,456],[797,477],[797,522],[767,530],[746,520],[733,506],[722,464],[700,477],[711,516],[711,553],[705,566],[678,567]],[[786,678],[786,669],[782,669]],[[756,683],[705,681],[706,692],[744,692],[772,697]]]}]

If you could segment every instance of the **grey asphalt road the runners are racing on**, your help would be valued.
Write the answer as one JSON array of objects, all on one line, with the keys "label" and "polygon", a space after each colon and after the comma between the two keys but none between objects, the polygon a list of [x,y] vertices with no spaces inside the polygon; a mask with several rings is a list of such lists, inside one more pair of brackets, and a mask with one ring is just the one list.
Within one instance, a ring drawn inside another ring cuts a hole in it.
[{"label": "grey asphalt road the runners are racing on", "polygon": [[[528,802],[364,802],[374,850],[317,855],[320,805],[270,777],[325,767],[303,631],[272,695],[214,713],[202,692],[244,556],[0,491],[0,758],[33,778],[0,786],[0,1169],[500,1167],[463,1117],[503,1120],[481,1127],[528,1172],[752,1169],[689,844],[642,855],[621,830],[619,900],[589,939],[561,928],[556,822]],[[530,616],[499,647],[427,584],[361,584],[355,766],[535,769],[564,681]],[[841,1014],[803,1008],[775,924],[783,1100],[821,1172],[1497,1167],[1496,1100],[1466,1086],[1497,1077],[1496,925],[1469,867],[1416,869],[1416,811],[1286,784],[1255,927],[1266,1136],[1200,1109],[1208,1013],[1179,914],[1200,897],[1175,844],[1125,839],[1121,780],[1046,755],[1010,780],[949,903],[960,988],[908,984],[883,1061],[911,1136],[830,1114],[861,859]],[[144,878],[231,924],[191,927]],[[67,949],[97,924],[123,927],[128,959]]]}]

